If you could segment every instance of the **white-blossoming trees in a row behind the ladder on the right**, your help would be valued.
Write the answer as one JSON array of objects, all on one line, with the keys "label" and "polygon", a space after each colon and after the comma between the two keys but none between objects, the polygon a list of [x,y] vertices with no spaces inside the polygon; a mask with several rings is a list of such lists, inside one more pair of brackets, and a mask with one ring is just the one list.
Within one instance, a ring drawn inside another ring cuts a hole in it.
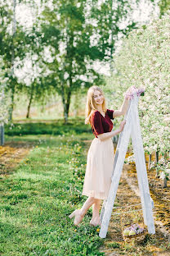
[{"label": "white-blossoming trees in a row behind the ladder on the right", "polygon": [[145,97],[139,103],[145,153],[151,156],[156,152],[151,167],[157,168],[157,175],[162,170],[164,178],[170,176],[169,44],[170,11],[150,25],[132,31],[123,41],[121,51],[114,57],[116,72],[107,86],[110,91],[116,91],[111,97],[115,105],[120,105],[122,91],[129,86],[145,88]]}]

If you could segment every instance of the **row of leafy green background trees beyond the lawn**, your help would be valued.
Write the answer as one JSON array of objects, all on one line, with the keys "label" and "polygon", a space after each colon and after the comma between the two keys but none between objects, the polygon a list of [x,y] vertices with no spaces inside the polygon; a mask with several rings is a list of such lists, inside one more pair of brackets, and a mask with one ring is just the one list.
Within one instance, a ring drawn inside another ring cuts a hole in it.
[{"label": "row of leafy green background trees beyond the lawn", "polygon": [[[154,1],[145,0],[146,2]],[[140,1],[136,0],[136,5]],[[71,95],[104,83],[96,61],[110,63],[118,40],[139,25],[132,20],[134,1],[119,0],[8,0],[1,2],[0,56],[6,92],[10,94],[9,117],[14,96],[20,91],[31,103],[46,95],[60,94],[65,122]],[[30,25],[19,21],[25,7]],[[151,10],[151,11],[153,11]]]}]

